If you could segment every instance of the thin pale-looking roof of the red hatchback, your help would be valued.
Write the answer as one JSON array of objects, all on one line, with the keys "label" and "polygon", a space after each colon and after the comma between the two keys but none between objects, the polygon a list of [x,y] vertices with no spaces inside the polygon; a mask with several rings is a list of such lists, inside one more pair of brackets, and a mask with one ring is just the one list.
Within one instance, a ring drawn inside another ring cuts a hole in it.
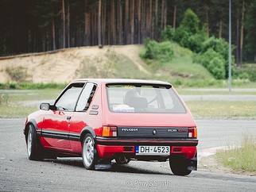
[{"label": "thin pale-looking roof of the red hatchback", "polygon": [[145,79],[74,79],[71,83],[85,83],[92,82],[98,84],[109,84],[109,83],[142,83],[142,84],[160,84],[160,85],[171,85],[170,83],[159,81],[159,80],[145,80]]}]

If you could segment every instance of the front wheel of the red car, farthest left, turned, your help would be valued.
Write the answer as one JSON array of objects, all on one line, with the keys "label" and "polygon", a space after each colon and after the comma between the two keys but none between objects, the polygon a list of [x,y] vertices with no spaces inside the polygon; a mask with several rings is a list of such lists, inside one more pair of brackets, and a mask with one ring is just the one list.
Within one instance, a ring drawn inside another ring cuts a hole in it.
[{"label": "front wheel of the red car, farthest left, turned", "polygon": [[41,151],[37,141],[37,132],[33,125],[29,125],[28,135],[26,137],[27,154],[30,160],[41,160]]}]

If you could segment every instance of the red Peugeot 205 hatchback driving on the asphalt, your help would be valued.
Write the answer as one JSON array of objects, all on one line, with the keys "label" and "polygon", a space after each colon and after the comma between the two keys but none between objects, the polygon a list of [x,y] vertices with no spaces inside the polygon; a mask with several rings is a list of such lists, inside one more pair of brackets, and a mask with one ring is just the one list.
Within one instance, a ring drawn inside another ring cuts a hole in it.
[{"label": "red Peugeot 205 hatchback driving on the asphalt", "polygon": [[29,159],[82,156],[84,167],[167,161],[174,175],[197,168],[196,123],[169,83],[76,79],[25,121]]}]

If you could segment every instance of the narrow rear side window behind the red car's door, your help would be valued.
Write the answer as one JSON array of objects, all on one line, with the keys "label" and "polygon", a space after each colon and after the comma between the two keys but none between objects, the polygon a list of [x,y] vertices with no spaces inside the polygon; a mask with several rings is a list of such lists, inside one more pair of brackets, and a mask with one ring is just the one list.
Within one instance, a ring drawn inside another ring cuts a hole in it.
[{"label": "narrow rear side window behind the red car's door", "polygon": [[85,111],[90,106],[91,100],[95,93],[96,86],[93,83],[87,83],[84,87],[80,99],[77,102],[76,111]]}]

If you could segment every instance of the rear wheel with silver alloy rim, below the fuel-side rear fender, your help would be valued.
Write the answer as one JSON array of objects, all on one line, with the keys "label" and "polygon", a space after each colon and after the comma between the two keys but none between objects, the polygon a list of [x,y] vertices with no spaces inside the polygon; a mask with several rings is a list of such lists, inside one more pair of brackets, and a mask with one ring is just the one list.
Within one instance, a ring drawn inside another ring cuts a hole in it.
[{"label": "rear wheel with silver alloy rim, below the fuel-side rear fender", "polygon": [[97,150],[95,149],[95,140],[90,133],[87,133],[84,136],[82,157],[84,167],[89,170],[94,170],[95,163],[98,160],[98,155]]}]

